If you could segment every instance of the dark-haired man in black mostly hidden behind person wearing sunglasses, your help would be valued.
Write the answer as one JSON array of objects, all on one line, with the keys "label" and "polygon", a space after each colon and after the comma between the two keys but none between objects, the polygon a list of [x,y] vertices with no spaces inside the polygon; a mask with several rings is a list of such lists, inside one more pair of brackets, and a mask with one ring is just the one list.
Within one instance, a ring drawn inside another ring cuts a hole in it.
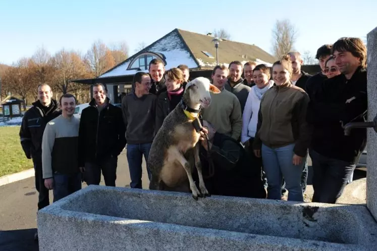
[{"label": "dark-haired man in black mostly hidden behind person wearing sunglasses", "polygon": [[325,63],[331,56],[331,48],[333,47],[332,44],[324,44],[317,49],[317,54],[315,58],[319,61],[319,66],[321,71],[313,76],[311,76],[305,84],[305,91],[308,94],[309,98],[312,95],[315,95],[316,89],[319,88],[322,82],[327,79],[325,75]]}]

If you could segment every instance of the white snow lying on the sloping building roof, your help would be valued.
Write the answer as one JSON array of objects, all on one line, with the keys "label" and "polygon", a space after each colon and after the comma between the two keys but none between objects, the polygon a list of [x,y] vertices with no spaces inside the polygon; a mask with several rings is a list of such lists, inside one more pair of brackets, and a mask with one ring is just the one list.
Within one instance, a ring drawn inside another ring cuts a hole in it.
[{"label": "white snow lying on the sloping building roof", "polygon": [[[187,47],[177,31],[169,33],[167,36],[159,39],[154,44],[146,47],[142,52],[162,54],[167,62],[167,65],[165,66],[166,70],[177,67],[180,64],[187,65],[188,68],[198,68],[197,63],[191,57]],[[139,55],[140,54],[137,54],[136,57]],[[117,66],[107,73],[102,74],[98,78],[134,75],[136,72],[138,72],[137,70],[127,70],[130,62],[133,61],[134,58],[135,57],[129,58],[123,64]],[[148,71],[144,70],[143,72]]]}]

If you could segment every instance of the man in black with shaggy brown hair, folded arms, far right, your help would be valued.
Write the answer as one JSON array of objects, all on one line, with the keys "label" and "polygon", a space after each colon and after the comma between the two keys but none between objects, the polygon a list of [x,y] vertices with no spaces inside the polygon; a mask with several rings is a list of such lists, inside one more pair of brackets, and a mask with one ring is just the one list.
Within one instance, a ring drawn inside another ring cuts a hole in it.
[{"label": "man in black with shaggy brown hair, folded arms, far right", "polygon": [[313,202],[321,203],[336,202],[366,144],[366,129],[344,135],[343,128],[365,119],[366,47],[359,38],[343,37],[334,43],[332,53],[342,74],[325,80],[307,113],[314,125]]}]

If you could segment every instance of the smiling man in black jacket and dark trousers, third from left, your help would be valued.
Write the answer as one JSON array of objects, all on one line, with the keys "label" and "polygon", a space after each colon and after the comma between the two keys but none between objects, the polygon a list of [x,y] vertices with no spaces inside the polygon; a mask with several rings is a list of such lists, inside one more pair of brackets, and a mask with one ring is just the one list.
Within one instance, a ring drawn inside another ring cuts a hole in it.
[{"label": "smiling man in black jacket and dark trousers, third from left", "polygon": [[118,156],[126,145],[122,110],[110,104],[104,84],[93,86],[94,98],[82,111],[79,127],[79,166],[88,185],[115,186]]}]

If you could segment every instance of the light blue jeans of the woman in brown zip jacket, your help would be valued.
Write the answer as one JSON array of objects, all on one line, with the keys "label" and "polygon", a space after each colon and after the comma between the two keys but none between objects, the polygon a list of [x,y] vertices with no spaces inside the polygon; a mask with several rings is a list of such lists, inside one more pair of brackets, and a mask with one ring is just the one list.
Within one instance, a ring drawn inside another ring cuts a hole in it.
[{"label": "light blue jeans of the woman in brown zip jacket", "polygon": [[293,165],[293,148],[290,144],[278,148],[270,148],[262,144],[262,161],[267,176],[267,198],[281,199],[282,181],[286,181],[288,200],[303,202],[304,197],[301,188],[301,173],[303,164]]}]

